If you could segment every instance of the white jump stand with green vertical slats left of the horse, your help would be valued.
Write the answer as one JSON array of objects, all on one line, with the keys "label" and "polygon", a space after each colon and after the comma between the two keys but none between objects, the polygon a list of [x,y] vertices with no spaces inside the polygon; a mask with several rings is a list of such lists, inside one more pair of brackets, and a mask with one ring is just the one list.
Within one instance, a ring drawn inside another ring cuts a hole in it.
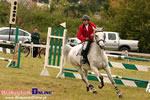
[{"label": "white jump stand with green vertical slats left of the horse", "polygon": [[[41,76],[49,76],[47,67],[60,68],[63,66],[63,47],[66,29],[48,28],[44,69]],[[54,49],[53,49],[54,48]]]}]

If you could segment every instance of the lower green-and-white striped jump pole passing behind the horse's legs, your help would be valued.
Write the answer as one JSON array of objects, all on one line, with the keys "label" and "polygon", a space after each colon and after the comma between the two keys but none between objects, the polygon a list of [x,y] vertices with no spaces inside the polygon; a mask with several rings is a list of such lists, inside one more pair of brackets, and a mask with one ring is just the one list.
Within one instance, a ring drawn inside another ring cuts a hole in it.
[{"label": "lower green-and-white striped jump pole passing behind the horse's legs", "polygon": [[[65,77],[70,78],[76,78],[76,79],[82,79],[80,74],[78,73],[72,73],[72,72],[64,72]],[[104,76],[104,82],[105,83],[111,83],[110,80],[106,77],[106,74],[102,74]],[[132,86],[132,87],[139,87],[139,88],[147,88],[149,87],[149,81],[147,80],[140,80],[140,79],[133,79],[129,77],[122,77],[122,76],[116,76],[112,75],[114,81],[116,84],[119,85],[125,85],[125,86]],[[88,80],[91,81],[100,81],[97,76],[88,75]],[[100,81],[101,82],[101,81]]]}]

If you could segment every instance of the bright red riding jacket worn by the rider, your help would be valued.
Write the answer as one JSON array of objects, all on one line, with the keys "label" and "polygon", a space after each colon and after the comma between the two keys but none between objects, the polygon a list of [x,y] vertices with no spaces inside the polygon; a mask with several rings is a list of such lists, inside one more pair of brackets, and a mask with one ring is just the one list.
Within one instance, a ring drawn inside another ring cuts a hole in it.
[{"label": "bright red riding jacket worn by the rider", "polygon": [[91,34],[94,34],[94,30],[93,30],[93,27],[96,28],[96,25],[94,23],[89,23],[89,26],[88,26],[88,30],[86,29],[85,25],[82,24],[80,27],[79,27],[79,32],[77,34],[77,38],[79,40],[81,40],[81,42],[85,42],[85,38],[88,37],[89,40],[93,40],[93,36],[91,37]]}]

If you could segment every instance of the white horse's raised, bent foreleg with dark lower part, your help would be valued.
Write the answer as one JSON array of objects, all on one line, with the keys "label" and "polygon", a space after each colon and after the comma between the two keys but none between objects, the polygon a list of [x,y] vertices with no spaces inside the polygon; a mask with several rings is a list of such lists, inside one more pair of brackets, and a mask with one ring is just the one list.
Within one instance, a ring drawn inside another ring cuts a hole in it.
[{"label": "white horse's raised, bent foreleg with dark lower part", "polygon": [[101,89],[104,87],[104,80],[103,80],[103,76],[100,74],[99,70],[94,67],[91,66],[91,69],[94,71],[94,73],[97,75],[98,79],[101,81],[101,85],[98,85],[98,87]]}]

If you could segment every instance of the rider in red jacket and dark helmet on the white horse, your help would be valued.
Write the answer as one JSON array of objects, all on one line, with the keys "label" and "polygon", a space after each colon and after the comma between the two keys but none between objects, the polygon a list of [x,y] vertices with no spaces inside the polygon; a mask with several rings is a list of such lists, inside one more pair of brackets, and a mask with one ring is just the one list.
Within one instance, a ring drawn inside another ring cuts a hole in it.
[{"label": "rider in red jacket and dark helmet on the white horse", "polygon": [[83,24],[79,27],[79,32],[77,34],[77,38],[81,40],[83,43],[81,55],[83,56],[81,63],[85,64],[87,61],[87,53],[90,49],[90,45],[93,42],[94,30],[96,25],[90,22],[90,17],[88,15],[84,15],[82,17]]}]

